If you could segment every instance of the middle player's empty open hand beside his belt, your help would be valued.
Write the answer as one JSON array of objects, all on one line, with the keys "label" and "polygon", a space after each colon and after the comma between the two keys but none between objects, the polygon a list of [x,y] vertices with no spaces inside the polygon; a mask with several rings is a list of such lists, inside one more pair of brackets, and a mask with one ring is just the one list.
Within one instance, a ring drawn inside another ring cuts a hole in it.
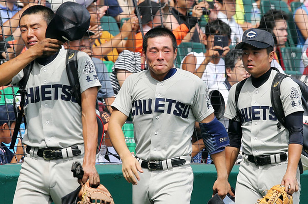
[{"label": "middle player's empty open hand beside his belt", "polygon": [[127,155],[122,159],[123,176],[129,183],[136,185],[137,184],[136,179],[140,181],[138,171],[140,173],[143,173],[140,163],[137,161],[136,158],[132,157],[131,154]]}]

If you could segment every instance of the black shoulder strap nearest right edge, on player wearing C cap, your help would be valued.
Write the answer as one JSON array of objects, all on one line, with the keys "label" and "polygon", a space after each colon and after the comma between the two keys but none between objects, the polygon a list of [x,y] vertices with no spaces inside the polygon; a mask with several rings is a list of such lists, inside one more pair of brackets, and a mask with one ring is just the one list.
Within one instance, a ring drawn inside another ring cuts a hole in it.
[{"label": "black shoulder strap nearest right edge, on player wearing C cap", "polygon": [[278,119],[277,127],[279,129],[281,128],[281,125],[285,126],[285,113],[283,112],[282,102],[280,100],[280,95],[281,95],[280,84],[282,80],[286,77],[288,76],[285,74],[277,73],[272,82],[271,93],[270,93],[271,103],[275,115]]}]

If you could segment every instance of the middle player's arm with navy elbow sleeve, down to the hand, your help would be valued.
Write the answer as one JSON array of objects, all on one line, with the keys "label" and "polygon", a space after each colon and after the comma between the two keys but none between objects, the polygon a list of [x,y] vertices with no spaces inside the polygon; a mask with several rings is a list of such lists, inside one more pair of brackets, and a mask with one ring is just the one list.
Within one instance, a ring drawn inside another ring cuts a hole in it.
[{"label": "middle player's arm with navy elbow sleeve, down to the hand", "polygon": [[218,193],[221,198],[225,198],[229,191],[233,195],[226,168],[225,147],[229,145],[227,131],[214,116],[214,113],[203,119],[199,126],[206,150],[211,155],[217,170],[217,180],[213,185],[213,194]]}]

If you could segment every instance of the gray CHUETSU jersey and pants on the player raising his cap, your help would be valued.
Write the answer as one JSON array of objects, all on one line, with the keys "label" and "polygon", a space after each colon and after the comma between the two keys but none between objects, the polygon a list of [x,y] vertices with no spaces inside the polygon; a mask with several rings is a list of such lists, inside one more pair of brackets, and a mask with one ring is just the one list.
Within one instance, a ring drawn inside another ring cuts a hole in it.
[{"label": "gray CHUETSU jersey and pants on the player raising his cap", "polygon": [[[67,50],[61,49],[55,59],[44,66],[34,61],[26,84],[27,127],[23,142],[40,149],[67,148],[62,152],[67,151],[69,158],[65,158],[63,153],[63,159],[45,160],[36,155],[37,148],[31,148],[22,163],[14,204],[25,200],[61,204],[61,198],[79,186],[71,173],[71,165],[75,161],[83,163],[81,107],[70,93],[66,53]],[[94,64],[83,52],[78,53],[78,76],[81,92],[91,87],[100,88]],[[22,77],[23,71],[13,78],[12,83],[17,83]],[[73,157],[69,151],[75,145],[81,154]]]}]

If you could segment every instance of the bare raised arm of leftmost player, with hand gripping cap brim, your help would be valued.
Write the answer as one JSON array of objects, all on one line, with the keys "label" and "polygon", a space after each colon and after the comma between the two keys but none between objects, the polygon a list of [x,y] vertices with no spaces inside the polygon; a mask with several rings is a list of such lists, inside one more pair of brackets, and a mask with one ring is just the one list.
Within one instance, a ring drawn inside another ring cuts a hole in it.
[{"label": "bare raised arm of leftmost player, with hand gripping cap brim", "polygon": [[17,57],[0,65],[0,86],[9,84],[12,78],[34,59],[54,55],[61,49],[62,44],[59,40],[44,39]]}]

